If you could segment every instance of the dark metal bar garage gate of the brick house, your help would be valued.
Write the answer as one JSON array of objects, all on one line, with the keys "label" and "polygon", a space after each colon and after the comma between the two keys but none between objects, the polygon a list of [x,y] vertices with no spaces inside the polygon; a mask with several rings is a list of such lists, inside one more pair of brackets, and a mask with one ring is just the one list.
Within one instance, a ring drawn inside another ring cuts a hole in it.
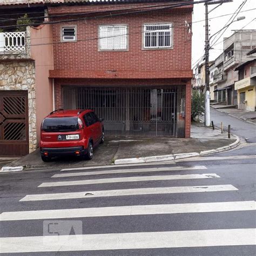
[{"label": "dark metal bar garage gate of the brick house", "polygon": [[109,136],[184,137],[185,86],[167,89],[63,86],[64,109],[92,109]]}]

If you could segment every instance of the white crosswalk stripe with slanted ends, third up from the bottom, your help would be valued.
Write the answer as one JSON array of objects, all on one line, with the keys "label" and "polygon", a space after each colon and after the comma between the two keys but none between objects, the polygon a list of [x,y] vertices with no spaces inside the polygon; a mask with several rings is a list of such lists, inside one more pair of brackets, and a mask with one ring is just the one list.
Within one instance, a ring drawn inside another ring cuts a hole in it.
[{"label": "white crosswalk stripe with slanted ends, third up from the bottom", "polygon": [[203,185],[203,186],[184,186],[184,187],[149,187],[149,188],[129,188],[126,190],[101,190],[101,191],[83,191],[70,193],[54,194],[29,194],[19,201],[39,201],[39,200],[58,200],[74,198],[92,198],[92,197],[118,197],[135,196],[142,194],[171,194],[171,193],[196,193],[196,192],[218,192],[234,191],[238,188],[228,185]]}]

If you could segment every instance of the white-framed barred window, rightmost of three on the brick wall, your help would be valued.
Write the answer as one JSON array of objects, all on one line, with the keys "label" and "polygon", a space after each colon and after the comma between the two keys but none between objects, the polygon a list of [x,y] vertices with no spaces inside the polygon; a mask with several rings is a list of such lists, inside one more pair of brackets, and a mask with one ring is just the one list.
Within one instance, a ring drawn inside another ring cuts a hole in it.
[{"label": "white-framed barred window, rightmost of three on the brick wall", "polygon": [[144,48],[171,48],[172,24],[144,24]]}]

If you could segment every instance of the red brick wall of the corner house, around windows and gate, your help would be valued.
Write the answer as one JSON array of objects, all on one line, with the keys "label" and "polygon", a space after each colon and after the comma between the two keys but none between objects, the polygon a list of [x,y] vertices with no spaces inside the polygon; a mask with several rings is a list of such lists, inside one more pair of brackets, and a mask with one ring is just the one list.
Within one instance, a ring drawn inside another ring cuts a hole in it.
[{"label": "red brick wall of the corner house, around windows and gate", "polygon": [[[49,14],[106,11],[147,5],[149,3],[56,6],[49,8]],[[187,23],[192,21],[192,6],[154,11],[149,14],[53,24],[54,70],[50,71],[50,77],[55,78],[56,109],[62,107],[62,85],[125,87],[186,85],[185,137],[189,138],[191,33],[188,33],[185,21]],[[172,23],[173,49],[143,50],[142,28],[145,23]],[[60,28],[65,24],[77,25],[77,42],[60,42]],[[129,50],[98,51],[98,26],[102,24],[126,24],[129,29],[127,39]]]}]

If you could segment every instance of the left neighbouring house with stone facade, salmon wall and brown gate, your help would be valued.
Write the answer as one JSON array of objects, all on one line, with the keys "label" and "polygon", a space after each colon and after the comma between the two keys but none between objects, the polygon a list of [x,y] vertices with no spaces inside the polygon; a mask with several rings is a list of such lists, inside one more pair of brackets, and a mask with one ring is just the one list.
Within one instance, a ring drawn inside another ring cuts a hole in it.
[{"label": "left neighbouring house with stone facade, salmon wall and brown gate", "polygon": [[[7,1],[0,7],[1,14],[24,12]],[[30,11],[36,10],[30,5]],[[0,156],[24,156],[36,149],[42,118],[52,111],[52,68],[50,25],[0,32]]]}]

